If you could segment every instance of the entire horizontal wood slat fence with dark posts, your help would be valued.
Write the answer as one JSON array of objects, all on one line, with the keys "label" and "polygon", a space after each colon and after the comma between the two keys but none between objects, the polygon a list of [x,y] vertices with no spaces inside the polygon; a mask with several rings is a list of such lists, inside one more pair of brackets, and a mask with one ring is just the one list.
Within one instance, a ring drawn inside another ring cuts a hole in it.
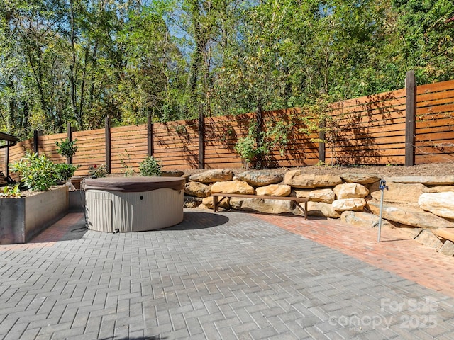
[{"label": "entire horizontal wood slat fence with dark posts", "polygon": [[[406,88],[350,99],[329,106],[331,131],[336,142],[323,143],[306,128],[299,108],[198,120],[98,130],[39,135],[18,142],[0,153],[0,169],[23,157],[26,149],[46,154],[54,162],[79,165],[76,176],[87,176],[89,166],[106,164],[112,174],[125,174],[148,155],[162,162],[164,169],[239,168],[243,162],[235,151],[251,122],[262,131],[276,122],[288,128],[288,142],[270,150],[267,167],[307,166],[319,161],[340,164],[407,165],[454,161],[454,80],[415,86],[414,72],[406,74]],[[332,134],[331,134],[332,135]],[[55,142],[77,139],[77,153],[71,160],[57,154]],[[284,150],[284,152],[282,152]]]}]

